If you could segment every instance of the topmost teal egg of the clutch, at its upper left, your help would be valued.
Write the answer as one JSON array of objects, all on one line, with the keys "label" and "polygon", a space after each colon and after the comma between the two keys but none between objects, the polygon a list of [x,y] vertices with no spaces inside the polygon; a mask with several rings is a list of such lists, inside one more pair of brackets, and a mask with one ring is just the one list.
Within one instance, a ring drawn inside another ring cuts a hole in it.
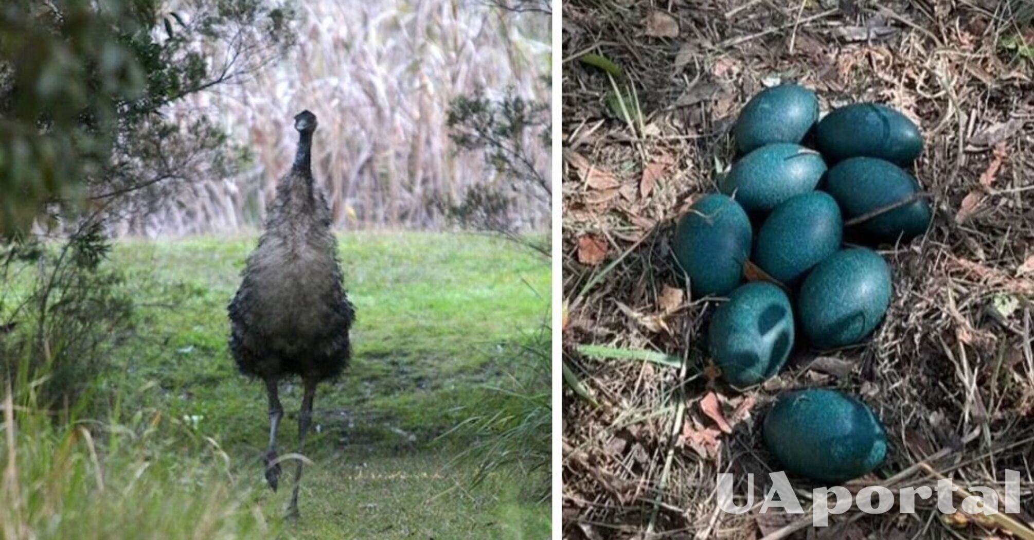
[{"label": "topmost teal egg of the clutch, at its upper left", "polygon": [[815,92],[797,85],[762,90],[743,106],[733,133],[746,154],[771,143],[799,143],[819,119]]}]

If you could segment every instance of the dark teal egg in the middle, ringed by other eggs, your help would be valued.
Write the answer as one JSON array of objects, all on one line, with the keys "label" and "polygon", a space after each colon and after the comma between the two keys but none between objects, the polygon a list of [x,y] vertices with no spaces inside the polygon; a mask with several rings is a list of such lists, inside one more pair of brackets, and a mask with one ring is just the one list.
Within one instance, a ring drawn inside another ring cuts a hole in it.
[{"label": "dark teal egg in the middle, ringed by other eggs", "polygon": [[844,223],[828,193],[801,193],[776,207],[758,231],[754,262],[768,275],[796,284],[840,249]]}]

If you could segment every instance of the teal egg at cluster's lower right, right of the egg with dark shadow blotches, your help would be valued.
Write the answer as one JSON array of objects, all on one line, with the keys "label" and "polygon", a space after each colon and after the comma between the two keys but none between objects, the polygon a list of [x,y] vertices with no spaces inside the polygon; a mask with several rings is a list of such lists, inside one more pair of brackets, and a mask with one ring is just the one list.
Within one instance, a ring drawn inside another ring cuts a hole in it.
[{"label": "teal egg at cluster's lower right, right of the egg with dark shadow blotches", "polygon": [[800,327],[818,349],[856,343],[890,304],[890,268],[864,247],[843,249],[816,265],[797,294]]}]

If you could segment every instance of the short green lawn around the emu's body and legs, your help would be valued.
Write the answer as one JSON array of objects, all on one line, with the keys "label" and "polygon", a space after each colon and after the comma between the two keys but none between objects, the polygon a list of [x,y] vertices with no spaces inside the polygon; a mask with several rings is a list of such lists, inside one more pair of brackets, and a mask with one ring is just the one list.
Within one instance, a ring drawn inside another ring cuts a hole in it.
[{"label": "short green lawn around the emu's body and legs", "polygon": [[[513,371],[509,343],[549,309],[549,267],[510,243],[474,235],[343,233],[340,254],[357,309],[353,363],[321,385],[299,508],[284,539],[547,538],[549,508],[520,497],[519,475],[472,487],[470,442],[436,439],[473,415]],[[225,305],[254,238],[123,241],[111,263],[138,302],[133,331],[100,384],[100,410],[188,419],[227,455],[245,508],[277,524],[281,489],[265,486],[263,385],[239,376],[226,349]],[[297,448],[297,384],[281,387],[278,451]],[[94,409],[98,409],[94,404]],[[284,488],[286,487],[286,488]]]}]

